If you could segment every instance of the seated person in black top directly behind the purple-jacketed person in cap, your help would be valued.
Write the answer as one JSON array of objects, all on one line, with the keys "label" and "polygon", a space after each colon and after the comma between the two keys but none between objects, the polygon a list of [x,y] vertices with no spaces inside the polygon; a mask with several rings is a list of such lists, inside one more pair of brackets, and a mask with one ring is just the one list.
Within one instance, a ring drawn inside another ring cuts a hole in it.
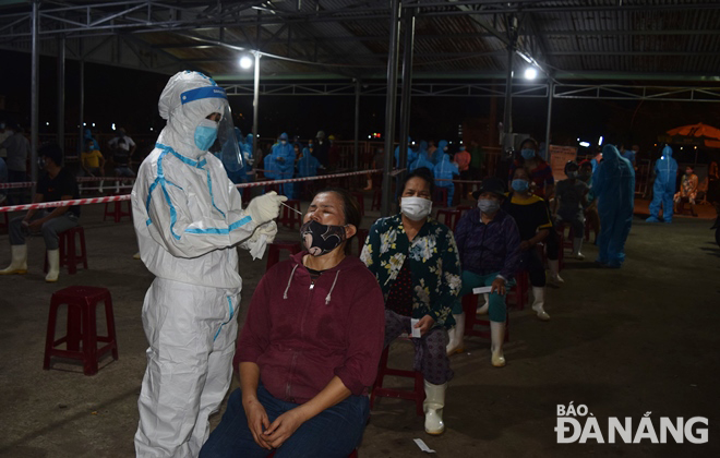
[{"label": "seated person in black top directly behind the purple-jacketed person in cap", "polygon": [[[520,267],[528,272],[532,286],[532,310],[541,321],[550,320],[545,312],[545,267],[538,243],[549,239],[552,219],[548,204],[536,194],[530,193],[530,172],[525,167],[515,169],[512,181],[512,191],[503,203],[520,231]],[[548,254],[550,262],[550,254]]]}]

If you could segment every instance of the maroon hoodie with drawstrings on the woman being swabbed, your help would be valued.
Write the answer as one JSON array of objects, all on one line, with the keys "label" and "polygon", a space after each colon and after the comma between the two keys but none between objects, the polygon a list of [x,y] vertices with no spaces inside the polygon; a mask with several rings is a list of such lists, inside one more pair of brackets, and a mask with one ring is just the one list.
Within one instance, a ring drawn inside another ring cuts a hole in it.
[{"label": "maroon hoodie with drawstrings on the woman being swabbed", "polygon": [[276,264],[260,280],[236,364],[256,363],[269,394],[288,402],[307,402],[335,375],[353,395],[367,394],[385,335],[377,280],[348,256],[312,286],[302,265],[305,254]]}]

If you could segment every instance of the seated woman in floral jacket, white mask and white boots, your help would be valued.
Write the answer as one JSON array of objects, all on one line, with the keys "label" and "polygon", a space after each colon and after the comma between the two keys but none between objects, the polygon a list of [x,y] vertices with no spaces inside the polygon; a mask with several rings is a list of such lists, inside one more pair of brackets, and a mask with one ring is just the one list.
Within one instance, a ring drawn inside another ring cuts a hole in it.
[{"label": "seated woman in floral jacket, white mask and white boots", "polygon": [[460,291],[460,261],[453,232],[430,217],[433,177],[425,168],[400,185],[400,213],[370,228],[360,258],[375,275],[385,297],[385,347],[403,333],[413,337],[415,370],[425,387],[425,432],[445,431],[443,407],[453,377],[445,352],[451,311]]}]

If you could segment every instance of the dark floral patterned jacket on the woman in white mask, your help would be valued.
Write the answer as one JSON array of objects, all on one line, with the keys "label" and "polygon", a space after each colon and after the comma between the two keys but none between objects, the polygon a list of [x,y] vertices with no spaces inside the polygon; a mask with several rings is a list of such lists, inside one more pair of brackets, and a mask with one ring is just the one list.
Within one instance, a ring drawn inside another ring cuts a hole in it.
[{"label": "dark floral patterned jacket on the woman in white mask", "polygon": [[460,257],[453,232],[429,217],[410,242],[400,214],[376,220],[360,260],[375,275],[385,300],[408,256],[413,285],[412,317],[430,315],[435,326],[453,326],[451,310],[461,287]]}]

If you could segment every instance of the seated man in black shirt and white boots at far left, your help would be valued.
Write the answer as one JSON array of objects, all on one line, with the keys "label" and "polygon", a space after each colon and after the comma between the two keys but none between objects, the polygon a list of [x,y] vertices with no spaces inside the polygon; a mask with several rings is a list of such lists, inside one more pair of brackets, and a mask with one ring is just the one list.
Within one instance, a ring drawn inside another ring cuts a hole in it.
[{"label": "seated man in black shirt and white boots at far left", "polygon": [[[57,143],[43,145],[37,155],[46,173],[37,182],[33,203],[70,201],[77,198],[77,182],[68,169],[62,168],[62,149]],[[60,233],[77,226],[80,206],[31,209],[24,217],[10,221],[10,248],[12,261],[0,275],[27,273],[27,233],[40,232],[48,250],[48,275],[45,281],[58,281],[60,274]]]}]

